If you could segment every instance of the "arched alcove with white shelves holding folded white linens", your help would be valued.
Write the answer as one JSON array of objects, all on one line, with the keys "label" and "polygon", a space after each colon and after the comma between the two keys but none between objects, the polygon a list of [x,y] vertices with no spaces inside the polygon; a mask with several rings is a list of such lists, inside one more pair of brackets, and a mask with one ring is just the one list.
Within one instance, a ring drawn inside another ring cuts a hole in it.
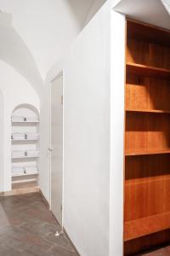
[{"label": "arched alcove with white shelves holding folded white linens", "polygon": [[12,189],[37,190],[39,113],[31,104],[16,106],[11,114]]}]

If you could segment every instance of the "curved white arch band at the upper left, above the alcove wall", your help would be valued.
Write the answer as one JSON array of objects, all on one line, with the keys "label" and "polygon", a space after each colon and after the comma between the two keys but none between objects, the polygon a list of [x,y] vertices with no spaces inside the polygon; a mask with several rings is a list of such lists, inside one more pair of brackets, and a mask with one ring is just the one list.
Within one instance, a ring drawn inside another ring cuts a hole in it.
[{"label": "curved white arch band at the upper left, above the alcove wall", "polygon": [[37,90],[37,94],[40,96],[44,81],[37,63],[30,49],[12,26],[11,21],[6,21],[9,18],[12,19],[8,17],[8,14],[0,13],[0,21],[2,21],[0,22],[0,60],[13,67],[17,73],[20,73]]}]

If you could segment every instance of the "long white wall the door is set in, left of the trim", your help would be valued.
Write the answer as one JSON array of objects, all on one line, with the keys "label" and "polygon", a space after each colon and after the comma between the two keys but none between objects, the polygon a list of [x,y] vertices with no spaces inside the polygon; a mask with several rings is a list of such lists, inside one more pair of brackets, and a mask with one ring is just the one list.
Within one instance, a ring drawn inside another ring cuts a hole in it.
[{"label": "long white wall the door is set in, left of the trim", "polygon": [[[106,4],[79,35],[63,65],[48,73],[50,81],[64,67],[64,227],[82,256],[109,255],[110,11]],[[42,107],[47,115],[43,134],[49,131],[47,106]],[[47,184],[46,166],[42,176]],[[47,186],[42,192],[47,193]]]}]

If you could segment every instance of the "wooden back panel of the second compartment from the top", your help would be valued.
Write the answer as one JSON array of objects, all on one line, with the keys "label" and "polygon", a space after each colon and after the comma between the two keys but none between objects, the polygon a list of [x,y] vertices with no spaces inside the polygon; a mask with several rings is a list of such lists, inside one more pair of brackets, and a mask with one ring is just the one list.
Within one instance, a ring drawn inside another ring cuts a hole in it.
[{"label": "wooden back panel of the second compartment from the top", "polygon": [[170,111],[170,81],[128,74],[126,108]]}]

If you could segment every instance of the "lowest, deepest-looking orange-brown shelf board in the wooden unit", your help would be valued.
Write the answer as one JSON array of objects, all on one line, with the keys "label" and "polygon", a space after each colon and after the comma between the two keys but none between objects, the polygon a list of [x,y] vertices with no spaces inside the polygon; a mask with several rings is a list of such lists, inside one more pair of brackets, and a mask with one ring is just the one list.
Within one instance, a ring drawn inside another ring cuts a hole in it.
[{"label": "lowest, deepest-looking orange-brown shelf board in the wooden unit", "polygon": [[170,212],[125,222],[124,241],[170,229]]}]

